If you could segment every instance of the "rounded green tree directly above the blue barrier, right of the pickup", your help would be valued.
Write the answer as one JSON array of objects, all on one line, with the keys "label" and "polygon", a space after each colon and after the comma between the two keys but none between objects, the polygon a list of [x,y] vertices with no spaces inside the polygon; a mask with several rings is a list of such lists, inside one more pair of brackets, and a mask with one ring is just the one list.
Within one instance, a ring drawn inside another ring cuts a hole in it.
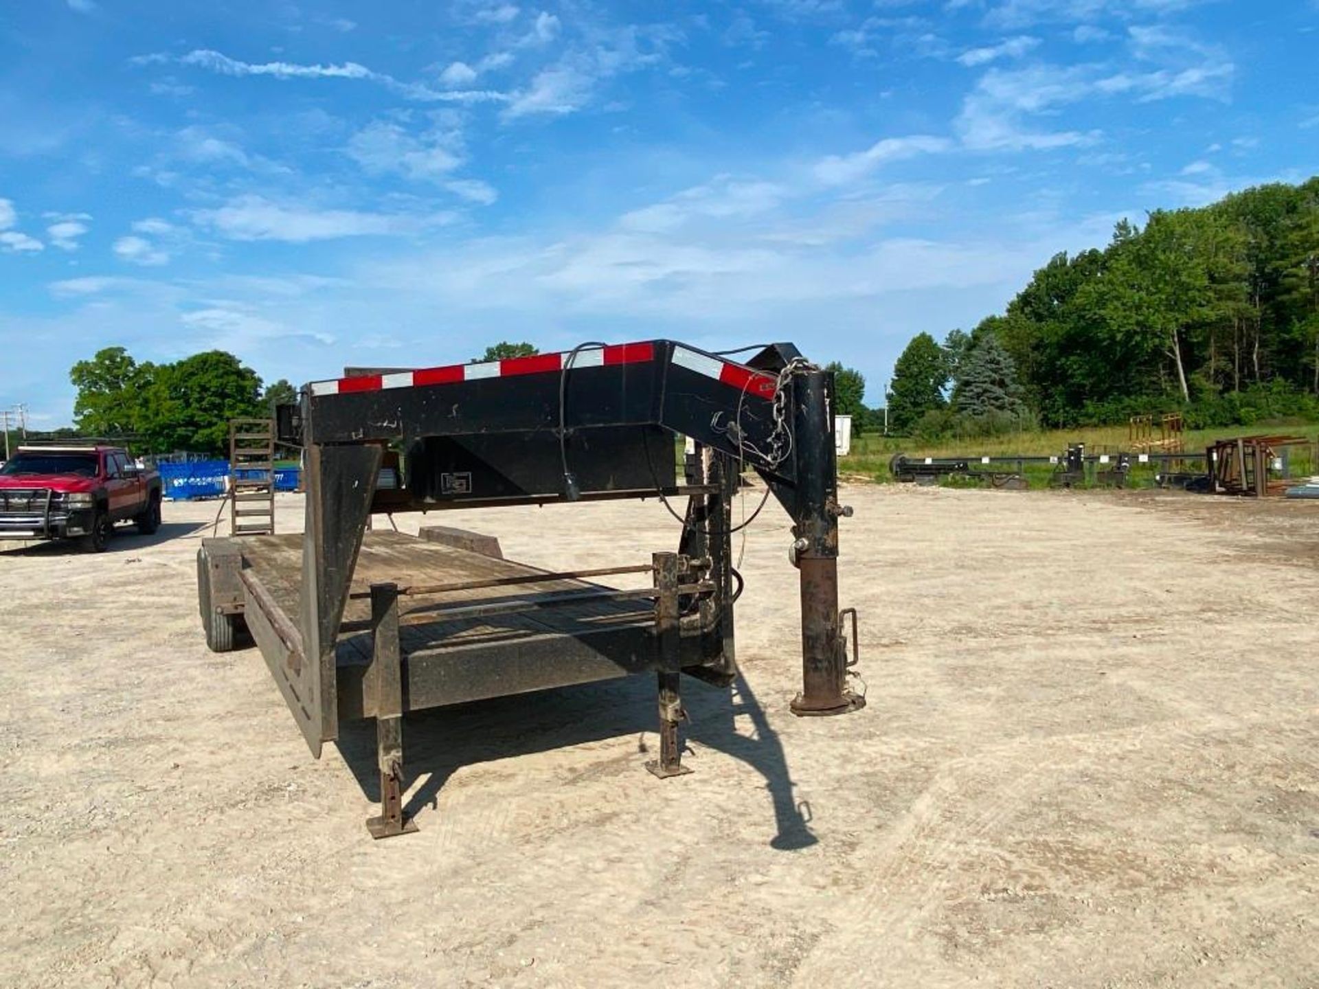
[{"label": "rounded green tree directly above the blue barrier, right of the pickup", "polygon": [[207,351],[157,369],[146,392],[142,431],[153,452],[226,454],[230,419],[261,415],[261,378],[224,351]]}]

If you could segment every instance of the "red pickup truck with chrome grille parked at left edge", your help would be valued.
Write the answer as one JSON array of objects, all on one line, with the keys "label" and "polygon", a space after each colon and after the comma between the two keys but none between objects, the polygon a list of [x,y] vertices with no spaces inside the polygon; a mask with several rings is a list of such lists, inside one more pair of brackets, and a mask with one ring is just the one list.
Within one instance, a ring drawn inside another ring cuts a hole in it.
[{"label": "red pickup truck with chrome grille parked at left edge", "polygon": [[161,476],[119,447],[18,447],[0,467],[0,539],[80,539],[102,553],[115,522],[161,524]]}]

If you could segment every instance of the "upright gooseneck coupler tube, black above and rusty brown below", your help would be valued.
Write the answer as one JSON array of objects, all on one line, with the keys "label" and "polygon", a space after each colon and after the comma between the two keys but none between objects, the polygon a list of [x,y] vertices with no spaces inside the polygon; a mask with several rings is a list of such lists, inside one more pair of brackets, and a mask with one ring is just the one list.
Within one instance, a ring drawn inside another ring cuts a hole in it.
[{"label": "upright gooseneck coupler tube, black above and rusty brown below", "polygon": [[794,715],[845,715],[865,705],[847,690],[847,647],[838,612],[838,454],[834,375],[794,375],[793,450],[797,458],[794,545],[802,588],[802,692]]}]

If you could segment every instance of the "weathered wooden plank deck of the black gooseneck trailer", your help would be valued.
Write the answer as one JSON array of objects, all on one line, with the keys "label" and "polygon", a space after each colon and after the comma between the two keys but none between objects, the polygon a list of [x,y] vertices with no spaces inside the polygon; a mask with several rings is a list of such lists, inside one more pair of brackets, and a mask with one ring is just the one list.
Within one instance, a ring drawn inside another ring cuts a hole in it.
[{"label": "weathered wooden plank deck of the black gooseneck trailer", "polygon": [[[255,576],[270,592],[285,614],[298,614],[302,571],[302,537],[298,534],[265,535],[243,541],[243,558]],[[352,593],[369,589],[373,583],[446,584],[467,580],[543,574],[525,563],[485,556],[470,550],[445,546],[393,531],[368,531],[352,576]],[[400,601],[401,638],[405,653],[435,649],[508,645],[541,636],[579,636],[620,625],[649,625],[653,608],[637,601],[580,601],[546,607],[489,618],[458,621],[438,620],[437,612],[456,604],[518,600],[530,593],[562,593],[601,589],[586,580],[550,580],[518,588],[484,588],[448,591],[437,595],[404,597]],[[344,622],[371,618],[371,601],[350,597]],[[336,644],[339,666],[363,666],[371,661],[369,632],[342,632]]]}]

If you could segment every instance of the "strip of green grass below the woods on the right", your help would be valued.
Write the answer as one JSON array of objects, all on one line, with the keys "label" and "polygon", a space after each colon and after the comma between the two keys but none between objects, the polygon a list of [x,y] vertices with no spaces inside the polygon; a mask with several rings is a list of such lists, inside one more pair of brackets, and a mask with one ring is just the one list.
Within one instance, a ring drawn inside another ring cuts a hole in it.
[{"label": "strip of green grass below the woods on the right", "polygon": [[[1315,447],[1319,442],[1319,423],[1314,422],[1270,422],[1256,426],[1232,426],[1213,430],[1192,430],[1183,435],[1183,447],[1187,452],[1204,452],[1204,447],[1217,439],[1229,436],[1250,436],[1260,434],[1287,434],[1304,436],[1310,440],[1307,446],[1291,447],[1289,450],[1290,475],[1293,477],[1307,477],[1319,473],[1315,467]],[[1088,454],[1119,454],[1137,452],[1128,439],[1126,426],[1095,426],[1075,430],[1047,430],[1034,433],[1016,433],[1002,436],[948,439],[938,443],[922,443],[911,436],[884,436],[880,434],[865,434],[852,436],[852,452],[839,458],[839,473],[851,477],[867,477],[876,481],[889,481],[889,460],[894,454],[907,456],[1054,456],[1062,455],[1070,443],[1084,443]],[[1198,469],[1195,463],[1188,469]],[[1010,469],[1006,465],[996,465],[995,469]],[[1043,484],[1050,467],[1028,465],[1025,473],[1035,484]],[[1153,464],[1132,464],[1129,481],[1133,487],[1151,487],[1154,473],[1158,468]]]}]

